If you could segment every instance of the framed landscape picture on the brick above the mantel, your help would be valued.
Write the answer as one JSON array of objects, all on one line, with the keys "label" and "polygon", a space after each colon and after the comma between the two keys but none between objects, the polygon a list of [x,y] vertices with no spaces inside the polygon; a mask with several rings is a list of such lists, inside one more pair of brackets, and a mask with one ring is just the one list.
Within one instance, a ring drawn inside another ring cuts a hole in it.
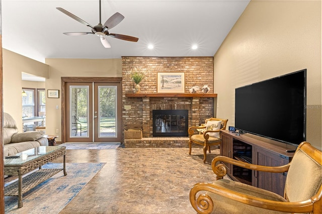
[{"label": "framed landscape picture on the brick above the mantel", "polygon": [[158,93],[184,93],[185,73],[184,72],[157,72]]}]

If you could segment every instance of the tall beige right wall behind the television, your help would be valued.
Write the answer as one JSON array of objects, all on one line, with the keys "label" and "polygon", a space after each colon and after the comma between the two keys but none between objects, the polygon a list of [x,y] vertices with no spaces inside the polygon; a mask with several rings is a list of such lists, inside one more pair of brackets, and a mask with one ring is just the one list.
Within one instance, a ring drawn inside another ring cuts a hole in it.
[{"label": "tall beige right wall behind the television", "polygon": [[321,149],[321,1],[251,1],[214,56],[217,117],[234,125],[236,87],[304,68],[306,140]]}]

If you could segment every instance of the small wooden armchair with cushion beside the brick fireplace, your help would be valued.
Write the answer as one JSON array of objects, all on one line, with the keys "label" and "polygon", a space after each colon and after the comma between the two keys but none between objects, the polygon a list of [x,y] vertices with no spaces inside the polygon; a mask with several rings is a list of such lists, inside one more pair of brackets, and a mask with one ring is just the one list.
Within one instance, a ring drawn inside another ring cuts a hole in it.
[{"label": "small wooden armchair with cushion beside the brick fireplace", "polygon": [[220,144],[220,131],[225,130],[227,119],[210,118],[206,120],[204,126],[189,127],[189,155],[191,155],[192,143],[203,146],[203,162],[206,163],[207,149],[210,151],[210,146]]}]

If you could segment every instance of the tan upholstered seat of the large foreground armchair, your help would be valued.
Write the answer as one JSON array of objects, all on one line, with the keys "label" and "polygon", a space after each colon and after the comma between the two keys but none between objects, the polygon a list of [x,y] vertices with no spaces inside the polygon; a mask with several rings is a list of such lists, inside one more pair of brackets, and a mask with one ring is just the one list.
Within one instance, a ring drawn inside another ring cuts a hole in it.
[{"label": "tan upholstered seat of the large foreground armchair", "polygon": [[[260,197],[268,200],[286,201],[278,194],[236,181],[220,179],[214,182],[213,185],[245,195]],[[211,197],[214,203],[214,208],[211,213],[286,213],[250,206],[227,197],[223,197],[219,194],[214,194],[212,192],[207,192],[207,194]]]}]

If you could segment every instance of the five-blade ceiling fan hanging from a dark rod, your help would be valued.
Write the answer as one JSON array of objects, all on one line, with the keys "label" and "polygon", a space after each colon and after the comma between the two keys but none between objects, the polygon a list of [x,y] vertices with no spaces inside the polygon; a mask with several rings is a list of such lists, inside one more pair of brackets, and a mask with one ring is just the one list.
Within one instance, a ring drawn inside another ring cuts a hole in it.
[{"label": "five-blade ceiling fan hanging from a dark rod", "polygon": [[65,35],[68,35],[68,36],[81,36],[81,35],[95,34],[96,36],[100,37],[102,45],[105,48],[110,48],[111,47],[110,43],[106,39],[107,36],[111,36],[111,37],[114,37],[116,39],[122,39],[122,40],[130,41],[130,42],[137,42],[139,40],[136,37],[122,35],[122,34],[113,34],[113,33],[109,32],[110,29],[112,29],[113,27],[118,25],[124,19],[124,16],[121,15],[120,13],[115,13],[113,16],[111,16],[104,23],[104,25],[102,25],[102,23],[101,23],[101,0],[100,0],[100,23],[98,25],[94,26],[94,27],[92,25],[88,24],[87,22],[85,22],[84,20],[76,17],[75,15],[69,13],[68,11],[66,11],[66,10],[64,10],[62,8],[56,8],[56,9],[58,11],[64,13],[64,14],[66,14],[70,18],[76,20],[77,22],[80,22],[83,25],[86,25],[86,26],[92,28],[92,32],[69,32],[69,33],[63,33]]}]

